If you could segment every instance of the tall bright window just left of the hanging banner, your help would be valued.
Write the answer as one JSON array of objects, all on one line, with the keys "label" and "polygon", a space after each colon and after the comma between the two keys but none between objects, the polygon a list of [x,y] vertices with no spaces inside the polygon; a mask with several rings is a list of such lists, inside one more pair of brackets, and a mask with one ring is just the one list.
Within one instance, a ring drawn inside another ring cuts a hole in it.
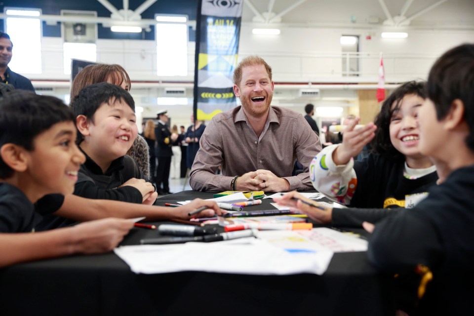
[{"label": "tall bright window just left of the hanging banner", "polygon": [[[186,22],[186,20],[187,18],[184,16],[157,16],[157,21]],[[187,76],[188,25],[184,23],[157,23],[156,34],[157,75]]]}]

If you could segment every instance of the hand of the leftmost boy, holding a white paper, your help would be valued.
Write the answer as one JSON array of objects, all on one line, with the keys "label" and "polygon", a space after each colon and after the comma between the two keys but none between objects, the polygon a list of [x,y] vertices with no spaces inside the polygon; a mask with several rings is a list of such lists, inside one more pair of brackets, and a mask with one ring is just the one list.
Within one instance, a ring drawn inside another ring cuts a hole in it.
[{"label": "hand of the leftmost boy, holding a white paper", "polygon": [[90,254],[111,251],[133,228],[133,224],[133,220],[121,218],[80,223],[73,227],[77,238],[72,245],[73,252]]}]

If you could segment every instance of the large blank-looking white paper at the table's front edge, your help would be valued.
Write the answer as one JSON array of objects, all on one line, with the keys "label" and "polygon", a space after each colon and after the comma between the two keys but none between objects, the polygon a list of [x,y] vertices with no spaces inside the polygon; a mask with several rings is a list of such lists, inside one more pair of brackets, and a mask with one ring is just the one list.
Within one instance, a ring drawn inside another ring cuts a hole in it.
[{"label": "large blank-looking white paper at the table's front edge", "polygon": [[[243,239],[243,238],[242,238]],[[238,241],[237,241],[238,240]],[[173,245],[121,246],[115,253],[135,273],[206,271],[249,275],[323,274],[333,253],[290,253],[256,238]]]}]

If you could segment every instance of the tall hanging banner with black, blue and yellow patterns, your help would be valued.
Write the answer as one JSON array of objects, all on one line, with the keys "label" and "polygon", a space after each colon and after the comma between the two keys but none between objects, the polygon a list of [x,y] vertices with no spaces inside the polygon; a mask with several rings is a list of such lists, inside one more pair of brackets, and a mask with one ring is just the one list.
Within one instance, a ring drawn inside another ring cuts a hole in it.
[{"label": "tall hanging banner with black, blue and yellow patterns", "polygon": [[210,120],[237,105],[233,76],[243,0],[198,2],[194,114],[198,120]]}]

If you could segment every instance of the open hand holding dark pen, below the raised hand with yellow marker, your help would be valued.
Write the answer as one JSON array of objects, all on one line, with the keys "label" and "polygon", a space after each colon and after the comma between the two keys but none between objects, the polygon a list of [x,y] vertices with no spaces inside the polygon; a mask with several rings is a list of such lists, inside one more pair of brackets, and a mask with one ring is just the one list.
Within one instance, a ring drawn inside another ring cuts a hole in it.
[{"label": "open hand holding dark pen, below the raised hand with yellow marker", "polygon": [[[282,197],[274,197],[273,200],[278,205],[289,206],[292,210],[308,215],[316,223],[326,224],[332,221],[332,208],[324,207],[316,201],[306,198],[296,191],[289,192]],[[308,205],[317,205],[324,210]]]}]

